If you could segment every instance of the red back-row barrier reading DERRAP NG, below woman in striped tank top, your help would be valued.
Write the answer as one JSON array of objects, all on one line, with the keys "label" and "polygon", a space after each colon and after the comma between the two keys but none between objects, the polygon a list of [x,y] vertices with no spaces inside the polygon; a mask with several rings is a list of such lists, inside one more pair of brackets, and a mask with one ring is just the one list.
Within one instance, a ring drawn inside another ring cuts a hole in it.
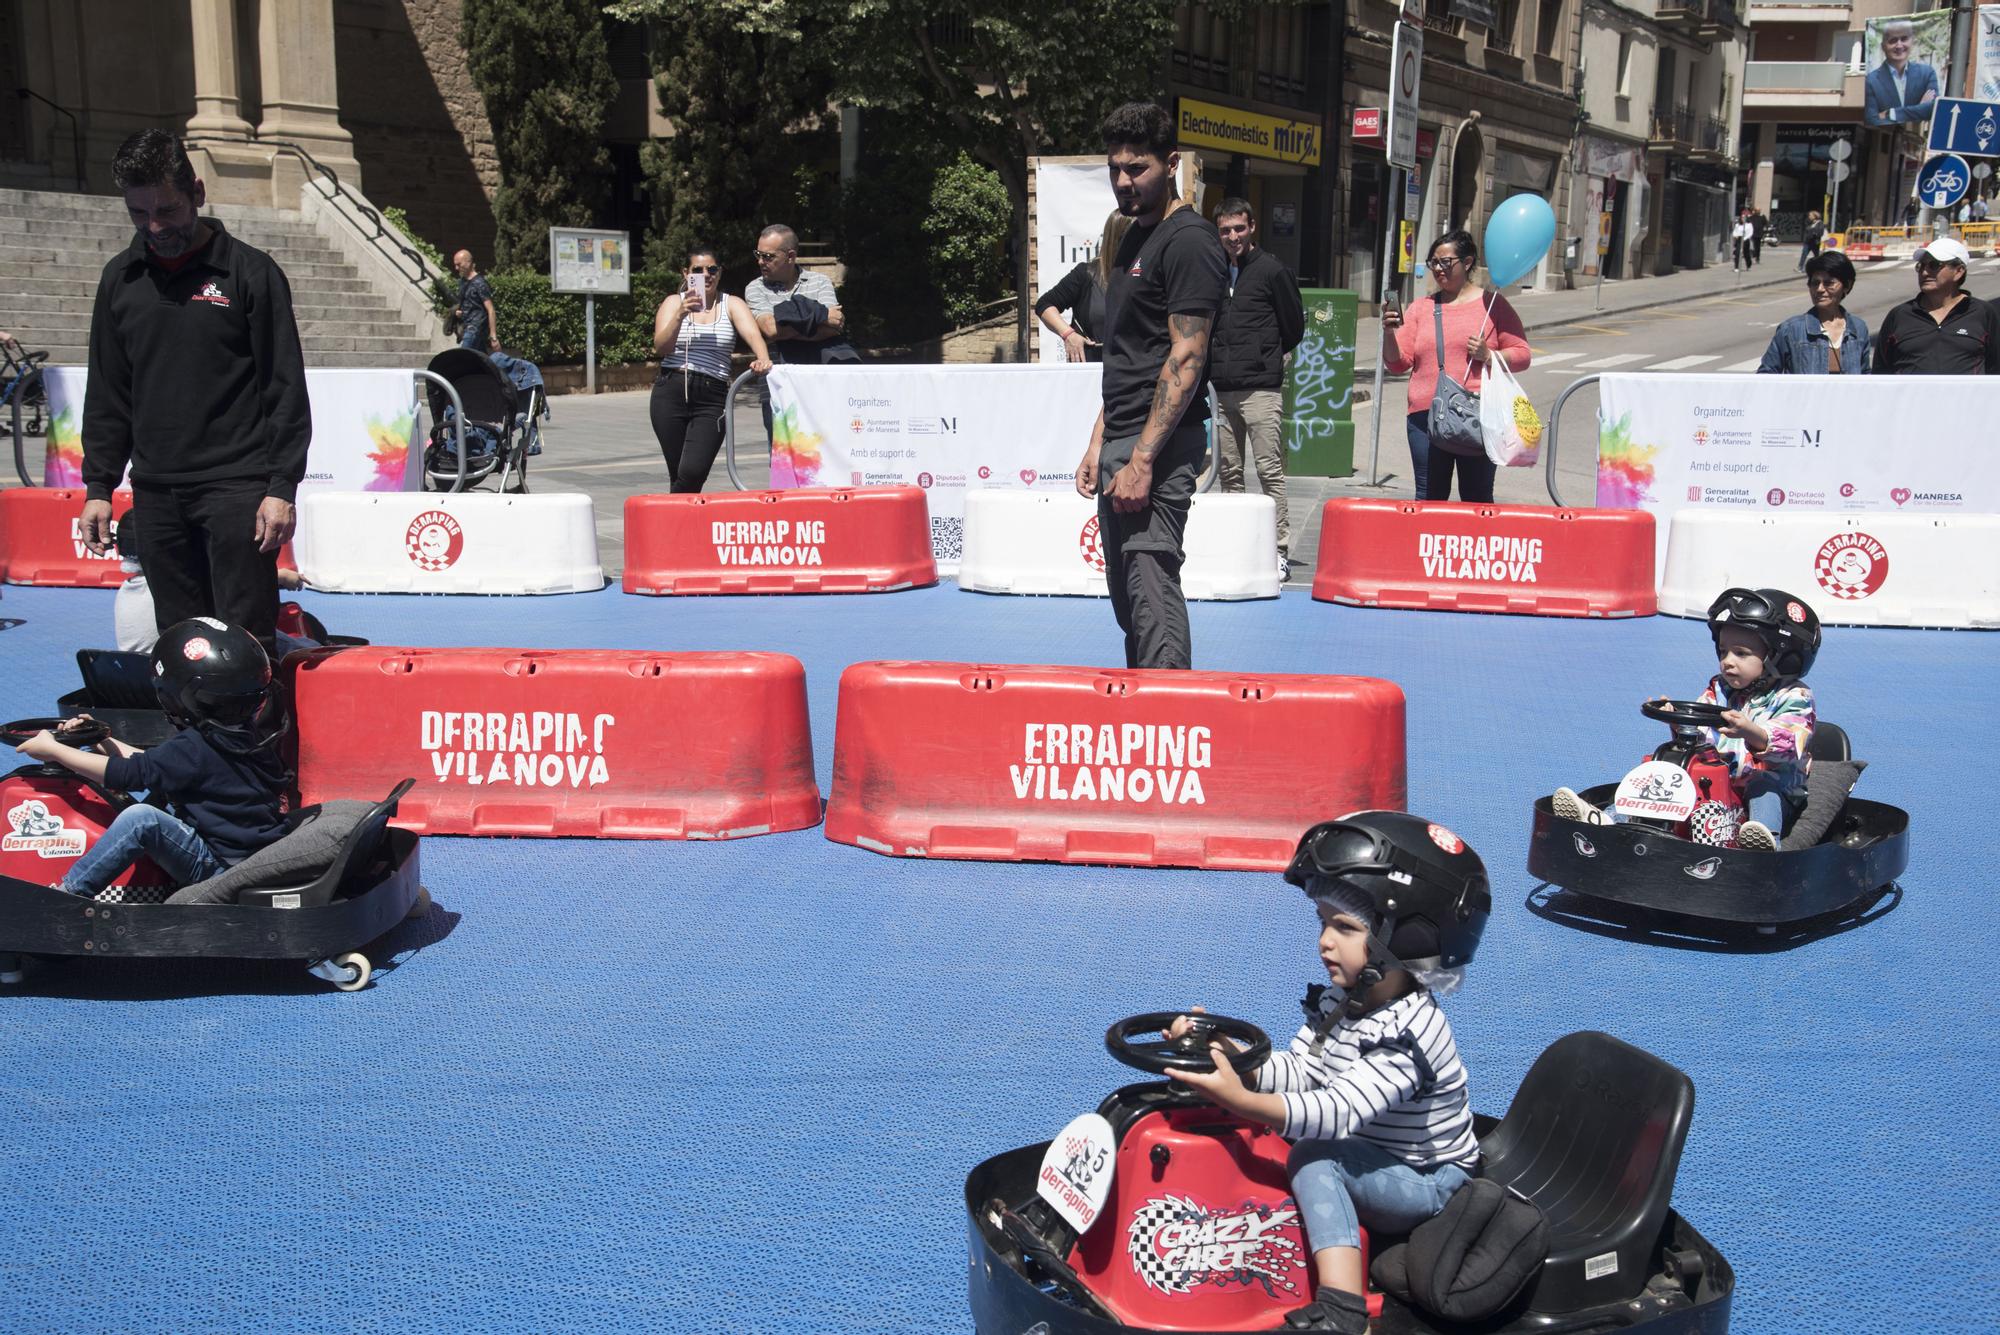
[{"label": "red back-row barrier reading DERRAP NG, below woman in striped tank top", "polygon": [[888,594],[938,582],[922,488],[626,498],[626,594]]}]

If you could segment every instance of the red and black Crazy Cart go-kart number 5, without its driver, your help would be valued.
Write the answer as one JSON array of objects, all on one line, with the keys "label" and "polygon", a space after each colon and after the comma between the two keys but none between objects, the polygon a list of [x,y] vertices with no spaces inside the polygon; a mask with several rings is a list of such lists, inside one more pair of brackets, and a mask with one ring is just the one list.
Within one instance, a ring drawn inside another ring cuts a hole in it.
[{"label": "red and black Crazy Cart go-kart number 5, without its driver", "polygon": [[[1172,1011],[1104,1035],[1142,1071],[1212,1069],[1208,1043],[1270,1053],[1252,1023],[1202,1017],[1180,1039],[1140,1041]],[[1694,1115],[1686,1073],[1608,1033],[1556,1039],[1506,1117],[1474,1117],[1480,1175],[1512,1187],[1550,1225],[1548,1259],[1516,1303],[1474,1325],[1370,1291],[1374,1335],[1542,1335],[1644,1329],[1728,1331],[1736,1275],[1672,1209]],[[1312,1273],[1286,1179],[1284,1137],[1184,1085],[1138,1083],[1054,1141],[986,1159],[966,1177],[972,1319],[978,1331],[1268,1331],[1312,1301]],[[1364,1257],[1394,1239],[1364,1239]]]}]

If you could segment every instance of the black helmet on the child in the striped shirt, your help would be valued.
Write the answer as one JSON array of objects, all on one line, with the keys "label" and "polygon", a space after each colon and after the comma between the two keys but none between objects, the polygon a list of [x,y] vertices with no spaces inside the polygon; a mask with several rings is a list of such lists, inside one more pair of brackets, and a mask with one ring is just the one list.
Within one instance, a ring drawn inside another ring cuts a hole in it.
[{"label": "black helmet on the child in the striped shirt", "polygon": [[1374,941],[1396,967],[1456,969],[1472,959],[1492,913],[1486,863],[1436,821],[1408,811],[1354,811],[1298,839],[1284,879],[1308,895],[1340,881],[1376,907]]}]

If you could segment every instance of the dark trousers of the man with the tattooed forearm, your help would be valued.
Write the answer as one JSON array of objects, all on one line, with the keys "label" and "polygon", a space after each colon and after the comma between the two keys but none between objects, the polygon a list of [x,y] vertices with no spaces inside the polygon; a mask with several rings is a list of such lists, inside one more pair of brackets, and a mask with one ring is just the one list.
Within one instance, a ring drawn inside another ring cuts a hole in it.
[{"label": "dark trousers of the man with the tattooed forearm", "polygon": [[1192,668],[1188,600],[1180,592],[1182,536],[1188,504],[1202,474],[1202,422],[1182,424],[1154,456],[1152,500],[1144,510],[1112,510],[1112,478],[1132,458],[1136,436],[1104,442],[1098,468],[1098,536],[1104,544],[1104,584],[1112,614],[1126,634],[1126,668]]}]

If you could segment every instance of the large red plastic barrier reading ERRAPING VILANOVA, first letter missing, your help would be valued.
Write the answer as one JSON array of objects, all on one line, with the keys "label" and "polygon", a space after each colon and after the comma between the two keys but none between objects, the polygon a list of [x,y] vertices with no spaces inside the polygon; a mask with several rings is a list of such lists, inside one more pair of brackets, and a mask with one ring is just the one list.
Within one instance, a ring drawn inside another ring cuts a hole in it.
[{"label": "large red plastic barrier reading ERRAPING VILANOVA, first letter missing", "polygon": [[904,857],[1276,871],[1314,821],[1402,805],[1392,681],[854,664],[826,837]]}]

